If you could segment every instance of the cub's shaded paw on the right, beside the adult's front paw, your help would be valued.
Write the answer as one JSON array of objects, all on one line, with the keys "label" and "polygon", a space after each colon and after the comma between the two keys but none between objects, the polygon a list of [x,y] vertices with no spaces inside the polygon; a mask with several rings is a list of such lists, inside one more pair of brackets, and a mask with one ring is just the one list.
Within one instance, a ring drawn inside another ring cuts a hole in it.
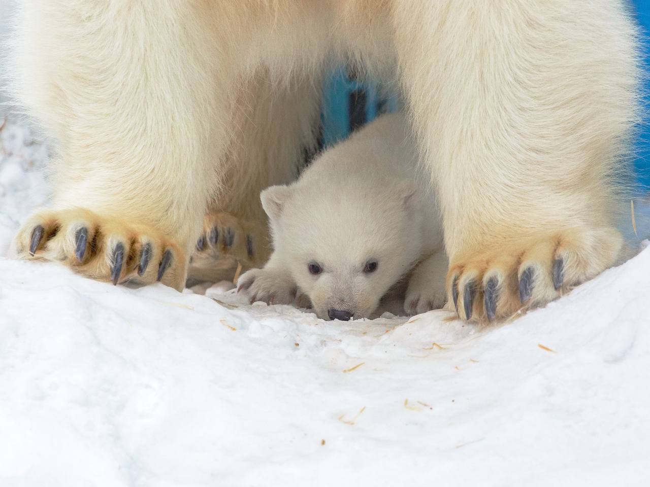
[{"label": "cub's shaded paw on the right, beside the adult's front paw", "polygon": [[439,252],[422,261],[413,270],[406,288],[404,311],[408,314],[420,314],[445,305],[447,267],[447,256],[444,252]]}]

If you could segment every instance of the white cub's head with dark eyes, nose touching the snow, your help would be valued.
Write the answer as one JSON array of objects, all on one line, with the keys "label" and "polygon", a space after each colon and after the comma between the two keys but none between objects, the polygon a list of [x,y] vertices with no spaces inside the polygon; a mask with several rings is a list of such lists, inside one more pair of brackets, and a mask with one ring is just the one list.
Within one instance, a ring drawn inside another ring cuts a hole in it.
[{"label": "white cub's head with dark eyes, nose touching the snow", "polygon": [[419,258],[415,190],[272,186],[261,194],[274,255],[319,318],[368,318]]}]

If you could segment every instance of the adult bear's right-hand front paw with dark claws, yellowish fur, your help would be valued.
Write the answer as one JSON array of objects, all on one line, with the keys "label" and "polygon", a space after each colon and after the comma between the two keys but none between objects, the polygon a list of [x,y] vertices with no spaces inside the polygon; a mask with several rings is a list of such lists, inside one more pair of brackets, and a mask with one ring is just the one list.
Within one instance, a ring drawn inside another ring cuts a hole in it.
[{"label": "adult bear's right-hand front paw with dark claws, yellowish fur", "polygon": [[447,273],[448,303],[461,319],[510,318],[613,266],[622,247],[611,227],[573,227],[461,256]]}]

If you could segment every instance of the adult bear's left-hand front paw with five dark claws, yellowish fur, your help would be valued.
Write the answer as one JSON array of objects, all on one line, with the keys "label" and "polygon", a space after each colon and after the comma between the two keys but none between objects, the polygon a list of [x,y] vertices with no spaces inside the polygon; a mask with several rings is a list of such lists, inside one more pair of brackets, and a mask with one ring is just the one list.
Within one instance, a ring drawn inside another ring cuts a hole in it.
[{"label": "adult bear's left-hand front paw with five dark claws, yellowish fur", "polygon": [[22,258],[62,262],[74,271],[113,284],[160,281],[182,290],[181,247],[148,225],[99,216],[83,208],[40,210],[16,236]]}]

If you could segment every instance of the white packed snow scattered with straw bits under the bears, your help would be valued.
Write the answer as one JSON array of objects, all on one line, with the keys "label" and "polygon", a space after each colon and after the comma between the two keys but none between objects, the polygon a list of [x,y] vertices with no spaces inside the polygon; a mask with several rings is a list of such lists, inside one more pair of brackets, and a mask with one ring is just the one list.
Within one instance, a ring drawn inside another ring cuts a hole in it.
[{"label": "white packed snow scattered with straw bits under the bears", "polygon": [[[45,149],[0,136],[8,255]],[[650,249],[484,329],[1,257],[0,485],[647,485],[649,295]]]}]

